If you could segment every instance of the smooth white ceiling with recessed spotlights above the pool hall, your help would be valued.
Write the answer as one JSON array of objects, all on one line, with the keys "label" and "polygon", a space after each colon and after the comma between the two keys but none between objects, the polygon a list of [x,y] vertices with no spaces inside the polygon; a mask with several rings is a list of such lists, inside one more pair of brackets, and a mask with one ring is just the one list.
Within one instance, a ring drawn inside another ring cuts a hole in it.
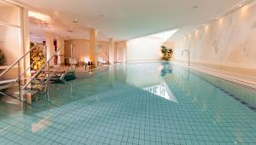
[{"label": "smooth white ceiling with recessed spotlights above the pool hall", "polygon": [[[31,25],[32,33],[88,38],[96,28],[99,38],[127,40],[201,23],[224,14],[241,0],[15,0],[48,14],[48,28]],[[78,23],[73,23],[73,20]],[[72,33],[67,31],[72,29]],[[35,34],[35,35],[36,35]]]}]

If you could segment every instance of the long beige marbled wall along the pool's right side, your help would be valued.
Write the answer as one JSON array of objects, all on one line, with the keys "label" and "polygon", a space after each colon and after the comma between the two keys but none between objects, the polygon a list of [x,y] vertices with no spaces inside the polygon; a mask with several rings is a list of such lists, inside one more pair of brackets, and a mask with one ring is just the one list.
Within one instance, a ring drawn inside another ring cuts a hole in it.
[{"label": "long beige marbled wall along the pool's right side", "polygon": [[187,60],[188,56],[181,54],[189,48],[192,61],[256,68],[255,15],[253,2],[205,26],[197,26],[197,30],[175,42],[175,58]]}]

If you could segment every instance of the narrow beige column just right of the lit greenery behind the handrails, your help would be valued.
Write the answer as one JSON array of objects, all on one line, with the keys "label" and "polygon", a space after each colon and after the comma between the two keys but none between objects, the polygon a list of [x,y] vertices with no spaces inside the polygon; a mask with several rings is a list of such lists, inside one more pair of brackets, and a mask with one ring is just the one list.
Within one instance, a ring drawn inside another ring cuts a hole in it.
[{"label": "narrow beige column just right of the lit greenery behind the handrails", "polygon": [[[55,53],[55,46],[54,46],[54,40],[55,40],[55,35],[53,33],[46,33],[45,35],[45,42],[46,42],[46,47],[47,47],[47,61],[49,60],[49,58],[54,55]],[[54,66],[55,65],[55,59],[51,59],[51,61],[49,61],[49,66]]]}]

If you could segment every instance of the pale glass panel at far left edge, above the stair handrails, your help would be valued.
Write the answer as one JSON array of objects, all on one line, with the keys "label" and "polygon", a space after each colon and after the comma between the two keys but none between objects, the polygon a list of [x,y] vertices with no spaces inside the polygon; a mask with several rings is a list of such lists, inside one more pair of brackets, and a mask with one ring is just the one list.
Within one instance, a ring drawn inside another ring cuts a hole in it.
[{"label": "pale glass panel at far left edge, above the stair handrails", "polygon": [[8,66],[21,53],[20,7],[0,0],[0,66]]}]

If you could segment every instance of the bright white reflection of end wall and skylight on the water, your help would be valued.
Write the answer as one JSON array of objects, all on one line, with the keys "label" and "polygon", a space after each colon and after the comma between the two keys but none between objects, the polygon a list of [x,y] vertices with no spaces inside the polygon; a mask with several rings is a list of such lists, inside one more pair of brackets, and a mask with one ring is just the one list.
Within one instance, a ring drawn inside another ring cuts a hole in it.
[{"label": "bright white reflection of end wall and skylight on the water", "polygon": [[177,102],[165,80],[172,72],[172,63],[169,62],[131,65],[127,67],[127,83],[166,100]]}]

